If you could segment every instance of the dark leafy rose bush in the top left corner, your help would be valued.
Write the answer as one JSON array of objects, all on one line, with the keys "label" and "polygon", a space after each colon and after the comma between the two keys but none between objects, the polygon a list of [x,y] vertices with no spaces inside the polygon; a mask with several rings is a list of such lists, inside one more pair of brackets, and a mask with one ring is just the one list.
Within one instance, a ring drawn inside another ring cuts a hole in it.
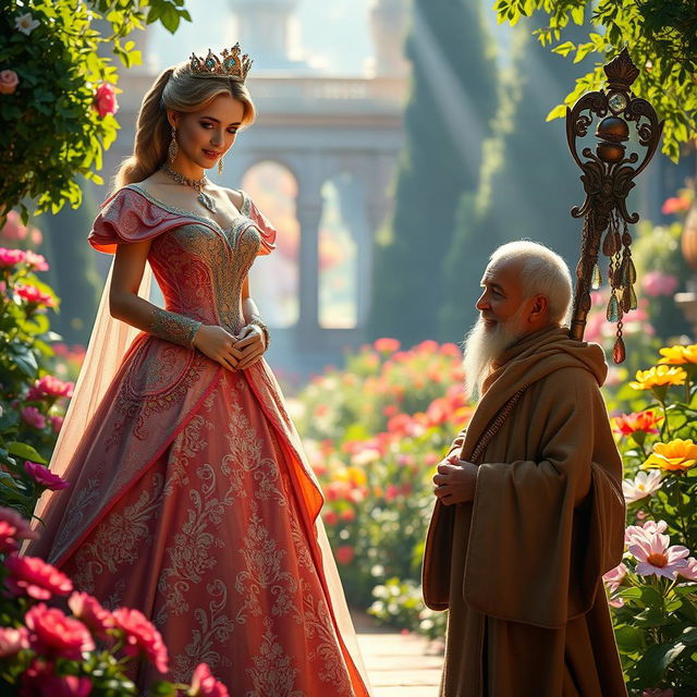
[{"label": "dark leafy rose bush in the top left corner", "polygon": [[0,223],[80,205],[81,175],[101,183],[105,149],[119,127],[118,71],[140,62],[134,29],[191,21],[184,0],[3,0],[0,13]]}]

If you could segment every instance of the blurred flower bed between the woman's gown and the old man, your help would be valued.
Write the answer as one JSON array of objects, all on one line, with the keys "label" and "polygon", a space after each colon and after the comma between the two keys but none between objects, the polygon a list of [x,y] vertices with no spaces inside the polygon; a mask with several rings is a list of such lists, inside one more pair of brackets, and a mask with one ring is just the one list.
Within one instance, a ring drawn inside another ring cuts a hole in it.
[{"label": "blurred flower bed between the woman's gown and the old man", "polygon": [[[420,599],[431,477],[472,414],[462,355],[380,339],[299,395],[296,421],[327,498],[323,522],[348,601],[382,621],[442,636]],[[299,408],[298,408],[299,406]]]}]

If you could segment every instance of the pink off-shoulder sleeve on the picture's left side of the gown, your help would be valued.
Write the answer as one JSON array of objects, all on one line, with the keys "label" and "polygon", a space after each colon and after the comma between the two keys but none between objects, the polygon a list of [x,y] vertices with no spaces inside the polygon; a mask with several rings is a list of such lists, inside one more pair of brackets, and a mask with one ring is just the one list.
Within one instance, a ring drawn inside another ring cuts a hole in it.
[{"label": "pink off-shoulder sleeve on the picture's left side of the gown", "polygon": [[175,213],[126,186],[105,201],[87,240],[95,249],[114,254],[119,244],[151,240],[178,224]]}]

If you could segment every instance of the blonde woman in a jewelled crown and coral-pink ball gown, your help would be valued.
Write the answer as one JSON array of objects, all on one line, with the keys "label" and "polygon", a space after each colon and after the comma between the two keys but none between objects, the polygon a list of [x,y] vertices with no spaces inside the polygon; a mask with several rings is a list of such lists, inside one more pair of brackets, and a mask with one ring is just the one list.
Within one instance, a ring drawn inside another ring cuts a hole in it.
[{"label": "blonde woman in a jewelled crown and coral-pink ball gown", "polygon": [[[151,619],[174,680],[205,661],[233,695],[363,697],[321,492],[249,290],[277,232],[205,174],[255,119],[249,64],[239,46],[192,57],[143,101],[89,234],[115,258],[52,463],[71,487],[42,502],[29,552]],[[166,309],[147,298],[149,268]]]}]

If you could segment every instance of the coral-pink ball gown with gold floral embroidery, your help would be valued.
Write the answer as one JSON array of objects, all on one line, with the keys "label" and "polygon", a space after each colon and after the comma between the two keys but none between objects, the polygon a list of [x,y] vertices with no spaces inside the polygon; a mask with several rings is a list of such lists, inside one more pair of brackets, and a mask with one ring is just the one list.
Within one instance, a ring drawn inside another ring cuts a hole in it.
[{"label": "coral-pink ball gown with gold floral embroidery", "polygon": [[205,661],[233,696],[363,697],[321,492],[277,381],[264,359],[232,372],[188,346],[198,322],[240,331],[243,281],[273,248],[276,231],[243,197],[227,230],[135,184],[105,204],[90,244],[151,240],[167,310],[57,463],[71,486],[42,502],[28,553],[150,617],[170,678]]}]

